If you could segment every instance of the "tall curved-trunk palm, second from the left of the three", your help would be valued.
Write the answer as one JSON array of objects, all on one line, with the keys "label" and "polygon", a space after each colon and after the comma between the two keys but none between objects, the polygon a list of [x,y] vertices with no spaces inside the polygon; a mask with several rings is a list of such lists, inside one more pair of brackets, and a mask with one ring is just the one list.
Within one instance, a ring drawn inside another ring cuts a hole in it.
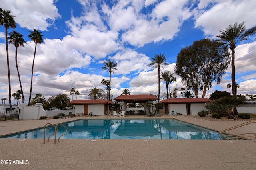
[{"label": "tall curved-trunk palm, second from the left of the three", "polygon": [[23,94],[21,80],[20,80],[20,72],[18,69],[17,51],[18,51],[18,47],[20,47],[20,46],[24,47],[24,43],[26,43],[26,41],[23,39],[23,35],[16,31],[12,31],[11,33],[9,33],[8,40],[9,40],[9,44],[13,44],[15,47],[15,63],[16,63],[16,68],[17,68],[17,72],[18,72],[19,82],[20,82],[22,102],[24,102],[24,94]]}]

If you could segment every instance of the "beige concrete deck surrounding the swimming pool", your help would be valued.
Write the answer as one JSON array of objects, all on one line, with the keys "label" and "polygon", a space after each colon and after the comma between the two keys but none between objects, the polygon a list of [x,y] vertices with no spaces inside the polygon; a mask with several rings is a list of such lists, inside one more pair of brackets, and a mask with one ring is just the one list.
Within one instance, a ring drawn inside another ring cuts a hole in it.
[{"label": "beige concrete deck surrounding the swimming pool", "polygon": [[[51,120],[1,121],[0,136],[75,119],[105,119],[104,116]],[[116,117],[114,117],[116,118]],[[111,119],[114,119],[111,117]],[[120,117],[118,117],[120,118]],[[148,119],[127,115],[121,119]],[[170,115],[149,117],[168,119]],[[217,131],[240,125],[239,121],[207,121],[178,116],[178,120]],[[256,123],[254,123],[256,124]],[[256,130],[256,125],[230,131]],[[0,139],[0,169],[256,169],[254,140],[148,140],[60,139],[43,144],[43,139]],[[10,161],[9,161],[10,160]],[[16,160],[18,160],[16,162]],[[6,164],[6,161],[10,164]]]}]

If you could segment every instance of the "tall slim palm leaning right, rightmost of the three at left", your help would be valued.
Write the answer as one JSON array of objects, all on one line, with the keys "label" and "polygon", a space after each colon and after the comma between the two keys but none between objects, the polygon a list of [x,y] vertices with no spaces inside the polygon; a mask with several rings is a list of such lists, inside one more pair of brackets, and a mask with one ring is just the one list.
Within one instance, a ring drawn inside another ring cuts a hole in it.
[{"label": "tall slim palm leaning right, rightmost of the three at left", "polygon": [[[34,29],[34,31],[29,31],[30,35],[28,35],[28,38],[31,39],[31,41],[34,41],[37,44],[42,44],[43,43],[43,35],[41,34],[41,31],[37,31]],[[33,83],[33,72],[34,72],[34,62],[35,62],[35,57],[36,57],[36,46],[35,46],[35,51],[34,51],[34,58],[33,58],[33,63],[32,63],[32,72],[31,72],[31,84],[30,84],[30,93],[29,93],[29,99],[28,99],[28,106],[30,106],[30,100],[31,100],[31,94],[32,94],[32,83]]]}]

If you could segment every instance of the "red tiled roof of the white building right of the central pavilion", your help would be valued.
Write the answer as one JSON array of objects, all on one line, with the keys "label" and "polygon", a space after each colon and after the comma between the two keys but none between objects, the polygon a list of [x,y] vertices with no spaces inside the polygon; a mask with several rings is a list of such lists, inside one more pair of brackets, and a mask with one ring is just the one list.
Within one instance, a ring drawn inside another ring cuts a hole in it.
[{"label": "red tiled roof of the white building right of the central pavilion", "polygon": [[169,98],[160,101],[160,104],[172,104],[172,103],[207,103],[213,100],[206,98]]}]

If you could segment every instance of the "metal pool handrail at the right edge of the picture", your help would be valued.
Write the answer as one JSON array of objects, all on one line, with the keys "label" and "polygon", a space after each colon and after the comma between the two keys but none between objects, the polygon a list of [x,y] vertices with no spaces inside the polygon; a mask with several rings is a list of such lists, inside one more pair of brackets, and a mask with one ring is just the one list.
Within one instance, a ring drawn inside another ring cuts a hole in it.
[{"label": "metal pool handrail at the right edge of the picture", "polygon": [[[240,125],[236,125],[236,126],[233,126],[233,127],[230,127],[228,129],[225,129],[223,131],[220,131],[218,133],[218,137],[220,139],[223,139],[223,140],[227,140],[227,139],[242,139],[242,138],[248,138],[248,137],[252,137],[252,138],[255,138],[256,140],[256,133],[242,133],[242,134],[237,134],[237,135],[224,135],[223,133],[226,132],[226,131],[230,131],[232,129],[236,129],[238,127],[242,127],[242,126],[245,126],[245,125],[249,125],[251,123],[256,123],[256,120],[251,120],[251,121],[248,121],[246,123],[242,123]],[[250,134],[250,135],[249,135]],[[222,135],[222,137],[220,137],[220,135]],[[240,135],[248,135],[248,136],[240,136]],[[251,135],[254,135],[254,136],[251,136]],[[235,136],[235,137],[234,137]],[[226,137],[226,138],[223,138],[223,137]]]}]

